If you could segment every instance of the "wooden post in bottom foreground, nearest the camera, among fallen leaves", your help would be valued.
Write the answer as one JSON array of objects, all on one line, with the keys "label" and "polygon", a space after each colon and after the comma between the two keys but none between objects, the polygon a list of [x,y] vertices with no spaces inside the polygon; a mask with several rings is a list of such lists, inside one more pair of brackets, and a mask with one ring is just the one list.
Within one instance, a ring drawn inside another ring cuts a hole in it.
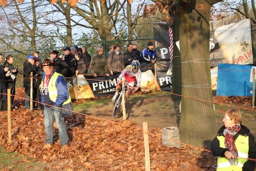
[{"label": "wooden post in bottom foreground, nearest the camera, among fallen leaves", "polygon": [[150,154],[148,142],[148,122],[143,122],[143,136],[145,146],[145,171],[150,171]]}]

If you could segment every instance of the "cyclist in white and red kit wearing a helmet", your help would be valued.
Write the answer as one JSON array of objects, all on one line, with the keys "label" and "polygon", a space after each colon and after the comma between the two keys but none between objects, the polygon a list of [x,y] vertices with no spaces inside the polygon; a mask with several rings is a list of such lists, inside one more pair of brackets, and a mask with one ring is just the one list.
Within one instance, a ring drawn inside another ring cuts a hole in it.
[{"label": "cyclist in white and red kit wearing a helmet", "polygon": [[[137,60],[134,60],[131,62],[131,65],[128,65],[125,67],[125,69],[121,72],[121,74],[118,77],[118,83],[120,84],[122,82],[122,77],[127,80],[127,83],[129,86],[134,87],[134,81],[137,79],[137,86],[135,87],[135,90],[138,90],[140,87],[140,81],[141,81],[141,71],[140,71],[140,62]],[[118,92],[120,90],[120,85],[116,87],[116,93],[112,98],[112,102],[114,102],[117,98]],[[131,93],[131,87],[126,91],[125,93],[125,102],[129,99]]]}]

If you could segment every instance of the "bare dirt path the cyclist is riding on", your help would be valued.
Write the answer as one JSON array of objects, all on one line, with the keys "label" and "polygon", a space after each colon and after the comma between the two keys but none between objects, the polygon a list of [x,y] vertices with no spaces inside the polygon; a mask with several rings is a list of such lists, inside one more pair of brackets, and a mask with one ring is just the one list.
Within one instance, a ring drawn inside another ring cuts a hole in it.
[{"label": "bare dirt path the cyclist is riding on", "polygon": [[[168,108],[168,112],[166,112]],[[119,113],[117,118],[112,118],[111,113],[113,110],[113,104],[109,103],[104,107],[94,108],[87,110],[86,114],[90,116],[99,117],[102,119],[122,120],[123,116]],[[139,125],[143,125],[143,122],[148,122],[148,128],[164,128],[175,126],[180,119],[180,113],[175,110],[174,103],[170,97],[141,99],[134,100],[131,98],[126,103],[126,118],[133,120]]]}]

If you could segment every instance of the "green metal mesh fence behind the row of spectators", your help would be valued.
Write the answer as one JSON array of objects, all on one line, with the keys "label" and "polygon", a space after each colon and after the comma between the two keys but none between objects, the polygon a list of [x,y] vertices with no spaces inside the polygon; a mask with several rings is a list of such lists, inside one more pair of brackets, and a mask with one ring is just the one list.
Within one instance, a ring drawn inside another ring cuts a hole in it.
[{"label": "green metal mesh fence behind the row of spectators", "polygon": [[[147,47],[147,44],[149,41],[152,41],[154,43],[154,38],[145,38],[145,39],[136,39],[136,40],[120,40],[120,41],[105,41],[105,42],[96,42],[96,43],[88,43],[88,44],[79,44],[79,45],[73,45],[73,46],[86,46],[87,52],[91,55],[91,57],[96,54],[96,47],[97,46],[103,46],[104,47],[104,54],[108,54],[108,50],[106,50],[107,44],[119,44],[120,45],[120,52],[124,53],[127,50],[127,44],[131,43],[132,41],[137,41],[137,49],[140,51],[142,49],[145,49]],[[20,67],[20,70],[23,71],[23,63],[26,61],[26,57],[28,55],[34,55],[35,51],[38,51],[40,53],[40,57],[42,60],[49,58],[49,52],[52,50],[57,50],[62,53],[61,47],[50,47],[50,48],[44,48],[44,49],[26,49],[26,50],[19,50],[19,51],[9,51],[9,52],[1,52],[3,53],[3,57],[6,55],[11,54],[14,57],[14,66]],[[16,87],[22,87],[23,86],[23,75],[18,74],[17,75],[17,82]]]}]

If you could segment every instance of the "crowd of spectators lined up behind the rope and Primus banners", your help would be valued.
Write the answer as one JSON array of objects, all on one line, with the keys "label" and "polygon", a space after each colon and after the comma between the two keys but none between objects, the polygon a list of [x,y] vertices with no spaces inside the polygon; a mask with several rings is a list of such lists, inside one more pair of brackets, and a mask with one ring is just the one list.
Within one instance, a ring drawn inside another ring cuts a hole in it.
[{"label": "crowd of spectators lined up behind the rope and Primus banners", "polygon": [[[86,46],[81,48],[77,46],[63,46],[61,51],[63,55],[57,50],[52,50],[49,52],[49,59],[54,62],[55,72],[63,75],[66,79],[73,78],[76,74],[88,74],[90,73],[97,77],[98,75],[119,75],[126,66],[130,65],[132,61],[140,61],[142,71],[154,70],[153,64],[156,61],[156,51],[154,49],[154,44],[148,42],[147,48],[140,52],[137,49],[137,42],[127,44],[127,50],[125,52],[120,52],[120,45],[111,45],[111,50],[108,52],[107,56],[103,55],[104,48],[102,46],[97,46],[97,53],[91,55],[87,52]],[[3,55],[0,54],[0,62],[3,60]],[[23,64],[23,73],[19,71],[19,67],[15,67],[13,64],[13,56],[7,55],[4,58],[4,64],[0,64],[0,100],[7,99],[7,89],[11,89],[11,106],[15,108],[13,104],[13,99],[15,97],[15,83],[16,76],[20,72],[23,74],[23,87],[26,92],[25,109],[30,108],[30,78],[31,72],[33,73],[33,101],[38,101],[35,105],[33,102],[33,109],[35,107],[42,108],[41,105],[41,93],[39,86],[42,81],[43,69],[40,66],[42,64],[42,58],[38,51],[34,52],[34,55],[28,55],[26,61]],[[7,100],[6,100],[7,101]]]}]

